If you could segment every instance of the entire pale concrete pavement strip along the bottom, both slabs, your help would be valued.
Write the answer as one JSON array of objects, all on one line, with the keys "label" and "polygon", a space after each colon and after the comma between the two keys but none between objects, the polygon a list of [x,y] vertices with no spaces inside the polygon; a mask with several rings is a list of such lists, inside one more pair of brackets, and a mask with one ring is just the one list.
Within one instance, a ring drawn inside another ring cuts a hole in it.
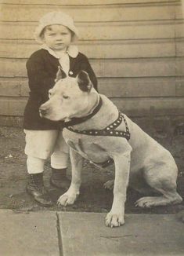
[{"label": "entire pale concrete pavement strip along the bottom, both slabs", "polygon": [[126,214],[110,229],[106,214],[0,210],[0,255],[183,255],[184,224],[175,215]]}]

